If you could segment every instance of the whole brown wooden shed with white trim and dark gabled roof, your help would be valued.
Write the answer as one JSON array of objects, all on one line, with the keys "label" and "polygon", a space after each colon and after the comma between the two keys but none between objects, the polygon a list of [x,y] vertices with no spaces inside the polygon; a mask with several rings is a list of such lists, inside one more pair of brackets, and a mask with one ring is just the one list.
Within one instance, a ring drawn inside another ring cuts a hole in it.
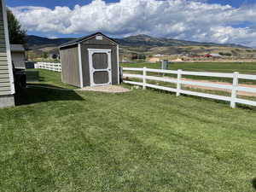
[{"label": "whole brown wooden shed with white trim and dark gabled roof", "polygon": [[119,84],[119,44],[101,32],[60,47],[62,82],[85,86]]}]

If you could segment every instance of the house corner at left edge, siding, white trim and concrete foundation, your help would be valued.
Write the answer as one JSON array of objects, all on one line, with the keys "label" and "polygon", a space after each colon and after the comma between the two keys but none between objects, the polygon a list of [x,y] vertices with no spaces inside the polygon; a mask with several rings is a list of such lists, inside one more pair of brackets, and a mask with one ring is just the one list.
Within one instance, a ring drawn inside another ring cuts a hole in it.
[{"label": "house corner at left edge, siding, white trim and concrete foundation", "polygon": [[0,0],[0,108],[15,105],[12,73],[5,4]]}]

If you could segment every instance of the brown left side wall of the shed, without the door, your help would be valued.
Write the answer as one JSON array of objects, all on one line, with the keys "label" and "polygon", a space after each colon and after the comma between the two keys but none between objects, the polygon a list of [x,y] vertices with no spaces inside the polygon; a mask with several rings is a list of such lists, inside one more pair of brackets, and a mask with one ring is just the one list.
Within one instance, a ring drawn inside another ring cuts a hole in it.
[{"label": "brown left side wall of the shed, without the door", "polygon": [[61,49],[61,71],[62,82],[80,87],[79,49],[77,45]]}]

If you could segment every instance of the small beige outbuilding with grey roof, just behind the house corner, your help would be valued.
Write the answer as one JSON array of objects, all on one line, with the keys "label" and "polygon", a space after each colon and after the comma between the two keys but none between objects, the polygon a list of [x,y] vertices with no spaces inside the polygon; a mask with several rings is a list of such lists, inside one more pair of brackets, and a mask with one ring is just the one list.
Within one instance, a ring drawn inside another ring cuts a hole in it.
[{"label": "small beige outbuilding with grey roof, just behind the house corner", "polygon": [[16,69],[25,69],[25,49],[22,44],[10,44],[12,62]]}]

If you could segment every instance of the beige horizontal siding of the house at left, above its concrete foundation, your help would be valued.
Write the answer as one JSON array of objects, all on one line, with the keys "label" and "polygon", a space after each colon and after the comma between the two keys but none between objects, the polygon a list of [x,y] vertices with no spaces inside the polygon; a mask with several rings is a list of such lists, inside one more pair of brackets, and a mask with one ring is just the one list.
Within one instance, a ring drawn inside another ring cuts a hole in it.
[{"label": "beige horizontal siding of the house at left, above its concrete foundation", "polygon": [[6,50],[6,39],[3,22],[3,2],[0,1],[0,96],[11,95],[9,62]]}]

